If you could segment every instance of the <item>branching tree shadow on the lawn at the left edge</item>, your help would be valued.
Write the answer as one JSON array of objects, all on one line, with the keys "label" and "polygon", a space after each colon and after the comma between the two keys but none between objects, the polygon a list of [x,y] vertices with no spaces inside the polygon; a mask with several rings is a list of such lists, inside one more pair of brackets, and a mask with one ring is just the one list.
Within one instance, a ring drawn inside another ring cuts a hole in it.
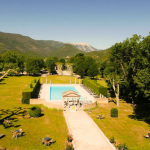
[{"label": "branching tree shadow on the lawn at the left edge", "polygon": [[[15,107],[13,110],[1,109],[0,112],[0,125],[3,125],[4,128],[20,127],[21,125],[14,125],[13,123],[17,122],[19,117],[24,118],[27,115],[27,109],[22,107]],[[18,116],[18,118],[15,118],[16,116]],[[6,123],[4,120],[9,120],[10,123]]]}]

